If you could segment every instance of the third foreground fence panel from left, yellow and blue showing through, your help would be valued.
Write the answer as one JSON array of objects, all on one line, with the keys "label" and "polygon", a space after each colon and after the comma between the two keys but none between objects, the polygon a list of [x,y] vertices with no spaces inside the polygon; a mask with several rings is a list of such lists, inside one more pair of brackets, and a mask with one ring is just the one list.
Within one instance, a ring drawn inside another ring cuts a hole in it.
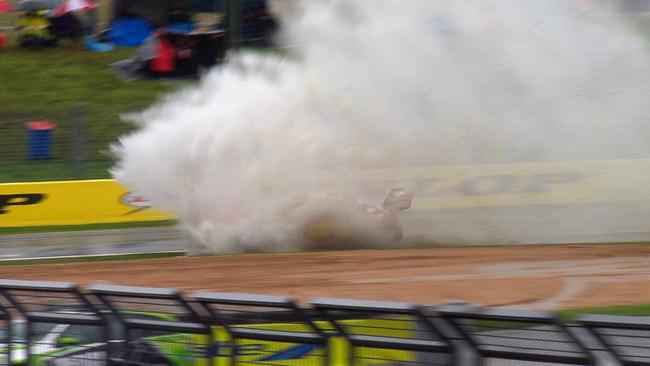
[{"label": "third foreground fence panel from left, yellow and blue showing through", "polygon": [[303,309],[285,297],[196,293],[215,326],[217,358],[233,365],[328,365],[327,339]]}]

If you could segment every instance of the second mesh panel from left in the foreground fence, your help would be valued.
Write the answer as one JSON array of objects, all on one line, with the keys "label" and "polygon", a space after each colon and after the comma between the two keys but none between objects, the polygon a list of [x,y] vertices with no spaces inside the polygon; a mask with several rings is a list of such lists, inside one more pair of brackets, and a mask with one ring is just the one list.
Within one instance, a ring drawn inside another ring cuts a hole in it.
[{"label": "second mesh panel from left in the foreground fence", "polygon": [[178,290],[114,285],[88,287],[109,309],[121,334],[112,339],[108,362],[129,365],[182,363],[191,355],[193,364],[210,360],[211,328]]}]

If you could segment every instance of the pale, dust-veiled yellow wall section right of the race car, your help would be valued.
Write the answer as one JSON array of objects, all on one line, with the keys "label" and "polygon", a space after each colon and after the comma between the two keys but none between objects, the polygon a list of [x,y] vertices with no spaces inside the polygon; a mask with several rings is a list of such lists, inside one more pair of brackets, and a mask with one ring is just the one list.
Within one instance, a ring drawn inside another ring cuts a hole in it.
[{"label": "pale, dust-veiled yellow wall section right of the race car", "polygon": [[650,159],[380,169],[353,179],[404,187],[411,210],[650,200]]}]

